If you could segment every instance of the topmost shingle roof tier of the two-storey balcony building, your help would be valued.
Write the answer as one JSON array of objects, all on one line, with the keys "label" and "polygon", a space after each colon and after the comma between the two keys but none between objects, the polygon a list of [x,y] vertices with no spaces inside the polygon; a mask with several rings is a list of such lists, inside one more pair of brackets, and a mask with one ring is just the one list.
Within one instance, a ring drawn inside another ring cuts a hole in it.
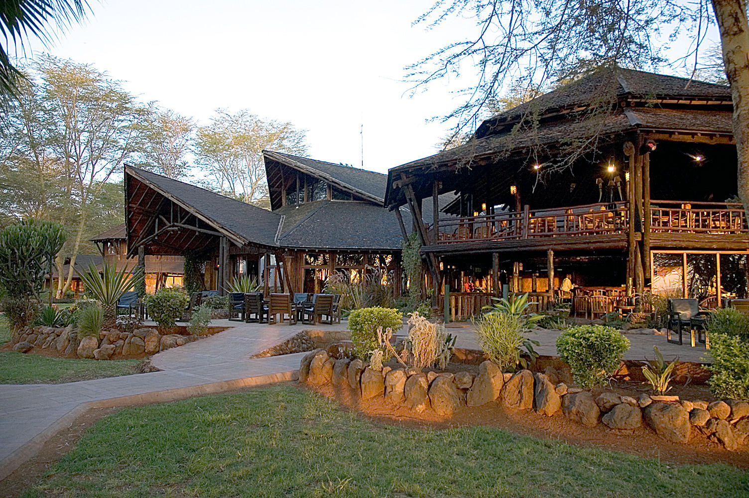
[{"label": "topmost shingle roof tier of the two-storey balcony building", "polygon": [[646,73],[625,69],[607,69],[577,79],[562,88],[543,94],[484,121],[476,137],[482,138],[494,133],[507,122],[517,121],[526,114],[545,114],[557,109],[573,106],[589,106],[600,101],[607,104],[613,97],[638,97],[649,99],[706,99],[730,101],[731,89],[727,85],[700,82],[694,79]]}]

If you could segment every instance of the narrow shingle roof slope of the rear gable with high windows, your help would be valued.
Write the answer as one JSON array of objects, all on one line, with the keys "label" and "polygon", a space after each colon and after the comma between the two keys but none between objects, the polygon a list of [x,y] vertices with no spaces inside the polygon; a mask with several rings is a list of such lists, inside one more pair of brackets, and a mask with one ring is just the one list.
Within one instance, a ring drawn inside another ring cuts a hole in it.
[{"label": "narrow shingle roof slope of the rear gable with high windows", "polygon": [[385,186],[387,184],[386,174],[354,168],[354,166],[345,166],[309,159],[307,157],[282,154],[281,152],[263,151],[263,153],[270,157],[279,157],[283,163],[290,166],[302,166],[313,176],[321,177],[324,180],[327,179],[326,177],[330,177],[338,180],[339,183],[353,187],[354,190],[365,192],[380,202],[384,201]]}]

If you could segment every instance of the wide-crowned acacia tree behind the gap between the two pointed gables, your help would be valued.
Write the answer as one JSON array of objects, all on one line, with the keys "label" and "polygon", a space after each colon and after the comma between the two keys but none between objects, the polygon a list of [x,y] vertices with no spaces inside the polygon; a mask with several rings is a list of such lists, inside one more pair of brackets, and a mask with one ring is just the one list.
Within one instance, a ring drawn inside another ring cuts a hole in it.
[{"label": "wide-crowned acacia tree behind the gap between the two pointed gables", "polygon": [[195,133],[195,156],[209,174],[207,186],[250,204],[267,196],[264,149],[306,154],[305,132],[247,110],[217,109],[210,124]]}]

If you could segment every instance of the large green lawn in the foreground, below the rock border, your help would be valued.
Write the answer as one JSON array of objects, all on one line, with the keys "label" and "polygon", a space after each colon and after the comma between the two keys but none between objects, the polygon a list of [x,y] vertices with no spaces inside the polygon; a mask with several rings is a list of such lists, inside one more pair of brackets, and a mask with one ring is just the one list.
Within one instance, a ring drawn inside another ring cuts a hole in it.
[{"label": "large green lawn in the foreground, below the rock border", "polygon": [[380,425],[277,385],[107,416],[21,496],[727,498],[749,496],[749,473]]}]

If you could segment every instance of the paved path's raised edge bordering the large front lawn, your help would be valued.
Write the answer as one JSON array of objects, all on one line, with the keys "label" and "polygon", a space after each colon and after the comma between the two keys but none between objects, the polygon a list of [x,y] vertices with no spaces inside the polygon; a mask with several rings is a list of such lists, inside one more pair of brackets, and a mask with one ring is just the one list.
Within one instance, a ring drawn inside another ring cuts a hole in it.
[{"label": "paved path's raised edge bordering the large front lawn", "polygon": [[146,392],[139,395],[119,396],[118,398],[88,401],[79,404],[73,408],[73,410],[65,413],[64,416],[61,416],[46,429],[31,438],[28,443],[25,443],[25,445],[16,449],[15,452],[0,461],[0,481],[7,476],[10,476],[10,474],[26,461],[34,458],[47,440],[58,432],[69,428],[79,416],[82,416],[92,408],[127,407],[139,404],[166,403],[169,401],[193,398],[195,396],[218,394],[219,392],[231,391],[243,387],[265,386],[277,382],[297,380],[298,378],[297,371],[285,371],[279,374],[265,374],[234,380],[222,380],[220,382],[201,384],[199,386],[166,389],[165,391]]}]

